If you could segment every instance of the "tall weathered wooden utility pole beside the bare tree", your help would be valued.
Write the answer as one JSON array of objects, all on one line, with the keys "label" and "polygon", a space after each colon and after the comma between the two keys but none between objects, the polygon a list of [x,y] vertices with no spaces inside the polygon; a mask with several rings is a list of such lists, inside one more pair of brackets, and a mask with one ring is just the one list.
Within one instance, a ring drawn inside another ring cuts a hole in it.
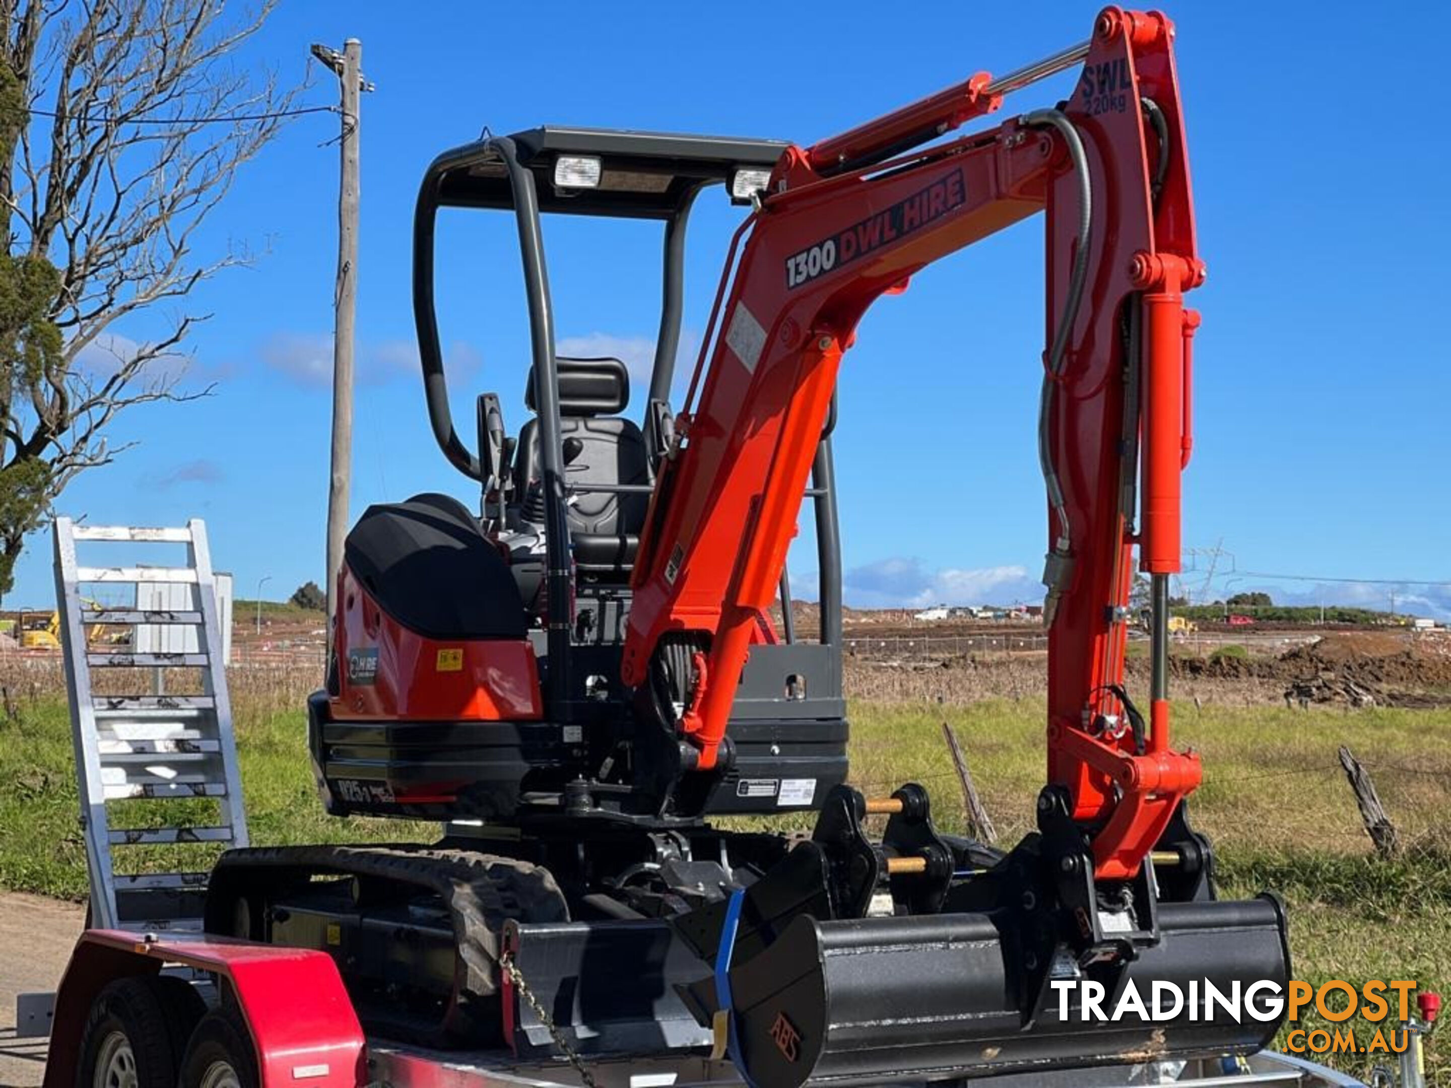
[{"label": "tall weathered wooden utility pole beside the bare tree", "polygon": [[[338,570],[342,567],[342,541],[348,531],[348,485],[353,477],[353,334],[358,289],[358,113],[364,90],[363,42],[348,38],[342,52],[313,45],[312,55],[328,65],[342,88],[342,133],[338,151],[342,160],[338,186],[338,279],[334,289],[332,325],[332,463],[328,479],[328,617],[334,615]],[[328,650],[332,650],[332,624],[328,624]]]}]

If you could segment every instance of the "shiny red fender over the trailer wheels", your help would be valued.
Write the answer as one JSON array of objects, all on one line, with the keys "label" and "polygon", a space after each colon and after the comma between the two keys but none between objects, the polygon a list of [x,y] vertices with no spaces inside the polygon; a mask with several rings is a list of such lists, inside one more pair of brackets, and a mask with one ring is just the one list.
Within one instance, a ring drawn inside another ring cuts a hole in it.
[{"label": "shiny red fender over the trailer wheels", "polygon": [[74,1088],[91,1002],[113,979],[183,963],[226,979],[257,1050],[261,1088],[367,1084],[363,1029],[337,965],[322,952],[119,930],[81,934],[55,998],[44,1088]]}]

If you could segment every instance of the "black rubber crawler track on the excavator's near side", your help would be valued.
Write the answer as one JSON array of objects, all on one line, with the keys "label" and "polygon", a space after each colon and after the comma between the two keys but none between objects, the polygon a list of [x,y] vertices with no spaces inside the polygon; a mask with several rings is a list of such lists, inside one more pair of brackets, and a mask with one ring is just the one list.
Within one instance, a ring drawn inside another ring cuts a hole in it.
[{"label": "black rubber crawler track on the excavator's near side", "polygon": [[553,873],[530,862],[429,846],[283,846],[228,850],[218,859],[207,889],[207,931],[228,931],[232,899],[257,891],[258,869],[270,869],[286,882],[337,873],[435,892],[448,908],[457,949],[454,994],[443,1024],[450,1036],[467,1036],[498,1023],[490,1008],[480,1024],[476,1013],[485,1010],[470,1007],[499,992],[499,934],[505,921],[569,921],[569,907]]}]

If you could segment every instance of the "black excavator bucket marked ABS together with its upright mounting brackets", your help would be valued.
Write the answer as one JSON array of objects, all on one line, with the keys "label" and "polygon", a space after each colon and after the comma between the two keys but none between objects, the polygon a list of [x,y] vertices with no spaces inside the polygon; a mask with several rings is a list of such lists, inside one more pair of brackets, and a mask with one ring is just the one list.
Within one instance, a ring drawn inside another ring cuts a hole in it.
[{"label": "black excavator bucket marked ABS together with its upright mounting brackets", "polygon": [[[1110,891],[1051,811],[1001,854],[939,836],[921,786],[892,799],[878,843],[862,796],[833,791],[811,840],[728,901],[675,920],[714,966],[685,1001],[702,1024],[728,1023],[747,1084],[1233,1058],[1274,1036],[1283,1002],[1267,998],[1290,978],[1284,908],[1270,894],[1216,901],[1212,857],[1183,814],[1187,862],[1162,876],[1148,865]],[[1133,994],[1142,1004],[1116,1015]]]}]

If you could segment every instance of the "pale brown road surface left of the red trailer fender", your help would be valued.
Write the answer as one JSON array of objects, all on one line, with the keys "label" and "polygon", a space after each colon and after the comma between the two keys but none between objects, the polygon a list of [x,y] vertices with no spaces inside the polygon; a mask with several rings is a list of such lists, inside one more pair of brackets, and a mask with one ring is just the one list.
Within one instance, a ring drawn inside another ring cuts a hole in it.
[{"label": "pale brown road surface left of the red trailer fender", "polygon": [[15,997],[55,989],[84,921],[77,904],[0,892],[0,1088],[41,1084],[45,1040],[16,1039]]}]

